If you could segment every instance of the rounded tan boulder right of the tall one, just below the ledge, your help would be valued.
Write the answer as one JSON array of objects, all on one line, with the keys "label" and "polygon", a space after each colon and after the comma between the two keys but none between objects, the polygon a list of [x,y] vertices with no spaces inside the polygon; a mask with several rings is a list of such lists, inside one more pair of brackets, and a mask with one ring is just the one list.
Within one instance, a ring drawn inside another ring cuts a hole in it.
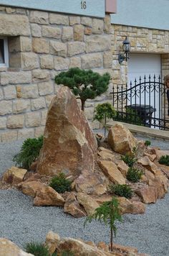
[{"label": "rounded tan boulder right of the tall one, just below the ledge", "polygon": [[133,147],[137,146],[137,140],[132,133],[122,124],[115,124],[108,134],[108,143],[112,150],[120,154],[132,154]]}]

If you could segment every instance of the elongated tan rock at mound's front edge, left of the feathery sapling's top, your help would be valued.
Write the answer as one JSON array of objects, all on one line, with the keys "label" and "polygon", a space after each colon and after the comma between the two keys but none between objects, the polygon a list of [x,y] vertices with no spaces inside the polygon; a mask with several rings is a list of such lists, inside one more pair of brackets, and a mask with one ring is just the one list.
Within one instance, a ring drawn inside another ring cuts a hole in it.
[{"label": "elongated tan rock at mound's front edge, left of the feathery sapling's top", "polygon": [[87,215],[93,214],[95,209],[99,207],[99,204],[97,204],[95,199],[85,193],[77,193],[77,201],[84,207]]}]

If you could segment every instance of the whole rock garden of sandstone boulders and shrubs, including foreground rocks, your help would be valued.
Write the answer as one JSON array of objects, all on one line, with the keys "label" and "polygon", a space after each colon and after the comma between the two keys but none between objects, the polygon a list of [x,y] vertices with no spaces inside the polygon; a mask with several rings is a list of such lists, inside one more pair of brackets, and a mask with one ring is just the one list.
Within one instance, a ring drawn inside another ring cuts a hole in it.
[{"label": "whole rock garden of sandstone boulders and shrubs, including foreground rocks", "polygon": [[136,140],[122,124],[111,127],[107,137],[94,135],[74,94],[62,86],[49,106],[43,137],[24,141],[14,157],[16,166],[6,170],[0,188],[17,188],[32,197],[33,206],[62,206],[74,218],[86,216],[84,225],[93,219],[107,224],[110,244],[49,231],[43,244],[27,244],[26,252],[1,238],[0,255],[145,256],[113,242],[115,221],[121,221],[122,214],[144,214],[147,204],[165,196],[168,155],[150,147],[150,141]]}]

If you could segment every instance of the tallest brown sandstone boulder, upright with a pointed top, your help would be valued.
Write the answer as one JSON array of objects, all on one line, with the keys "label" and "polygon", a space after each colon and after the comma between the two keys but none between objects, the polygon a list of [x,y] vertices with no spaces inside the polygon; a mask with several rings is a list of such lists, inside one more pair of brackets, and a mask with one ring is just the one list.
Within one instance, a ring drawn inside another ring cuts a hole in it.
[{"label": "tallest brown sandstone boulder, upright with a pointed top", "polygon": [[91,173],[96,151],[97,141],[77,99],[68,87],[61,87],[49,106],[37,172],[74,177]]}]

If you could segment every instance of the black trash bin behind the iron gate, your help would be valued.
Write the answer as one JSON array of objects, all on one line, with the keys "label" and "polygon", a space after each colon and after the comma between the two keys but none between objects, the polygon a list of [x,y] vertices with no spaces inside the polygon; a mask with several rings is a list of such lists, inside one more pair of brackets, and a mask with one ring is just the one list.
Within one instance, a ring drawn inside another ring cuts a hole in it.
[{"label": "black trash bin behind the iron gate", "polygon": [[153,106],[150,105],[140,105],[140,104],[132,104],[125,106],[127,109],[132,109],[137,111],[138,116],[140,116],[141,121],[143,122],[145,127],[151,127],[152,114],[156,111]]}]

